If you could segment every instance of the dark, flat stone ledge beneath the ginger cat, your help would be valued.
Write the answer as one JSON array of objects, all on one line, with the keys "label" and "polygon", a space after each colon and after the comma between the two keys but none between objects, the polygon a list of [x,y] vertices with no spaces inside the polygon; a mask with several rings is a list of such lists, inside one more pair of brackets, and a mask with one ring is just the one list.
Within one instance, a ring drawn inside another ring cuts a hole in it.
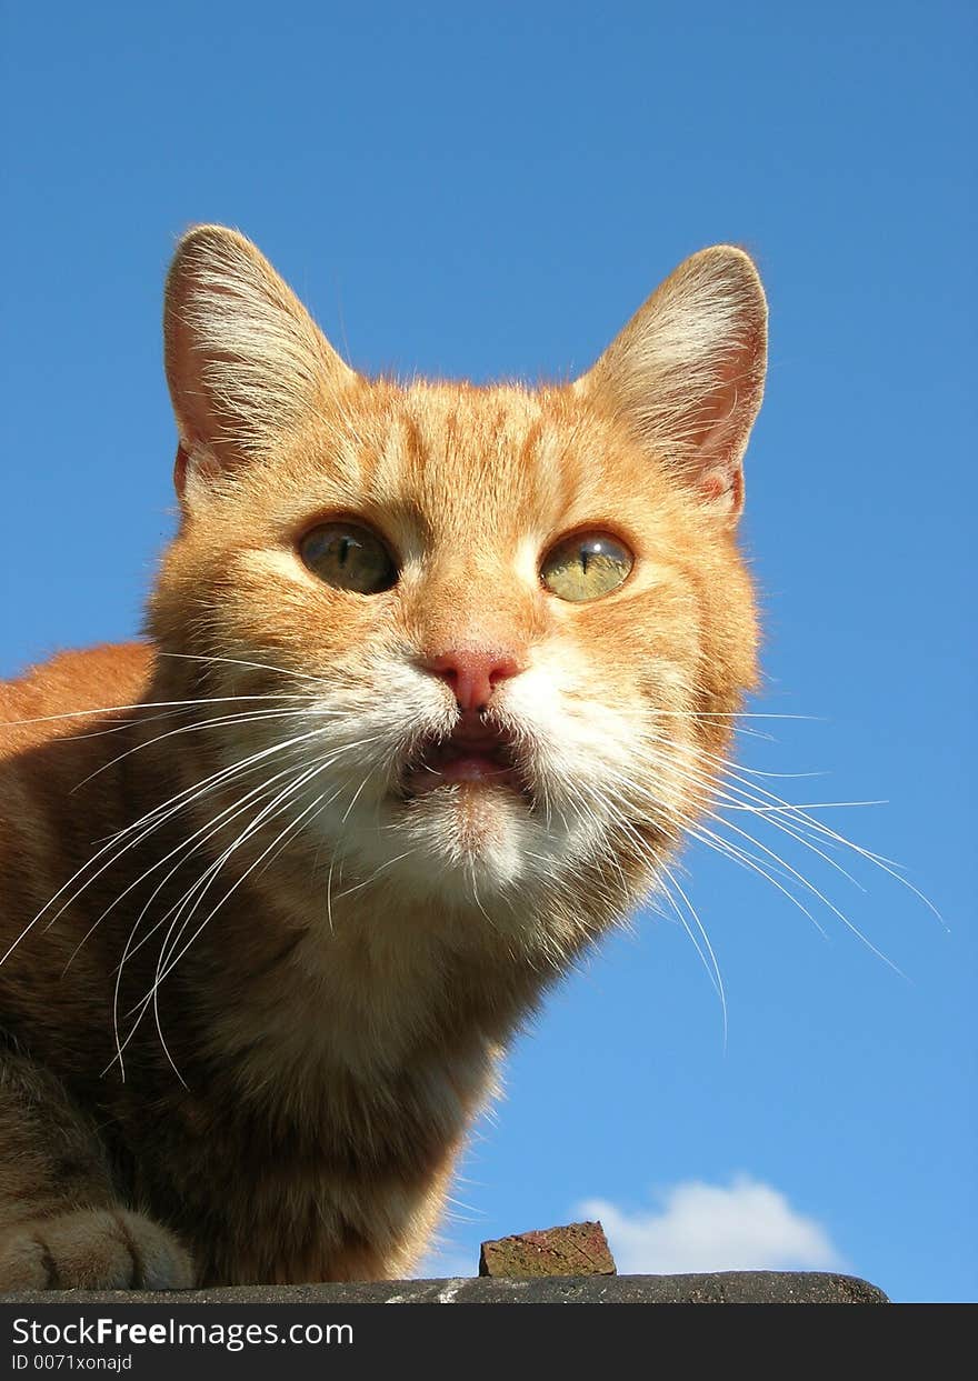
[{"label": "dark, flat stone ledge beneath the ginger cat", "polygon": [[220,1290],[46,1290],[3,1304],[888,1304],[856,1276],[816,1271],[721,1271],[688,1276],[540,1276],[383,1280],[367,1284],[228,1286]]}]

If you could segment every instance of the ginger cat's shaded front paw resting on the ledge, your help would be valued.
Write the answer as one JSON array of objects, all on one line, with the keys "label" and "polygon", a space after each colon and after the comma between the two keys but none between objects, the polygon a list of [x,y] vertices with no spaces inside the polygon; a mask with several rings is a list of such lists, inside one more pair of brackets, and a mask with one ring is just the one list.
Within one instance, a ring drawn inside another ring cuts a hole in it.
[{"label": "ginger cat's shaded front paw resting on the ledge", "polygon": [[191,1258],[124,1208],[82,1208],[0,1232],[0,1290],[186,1290]]}]

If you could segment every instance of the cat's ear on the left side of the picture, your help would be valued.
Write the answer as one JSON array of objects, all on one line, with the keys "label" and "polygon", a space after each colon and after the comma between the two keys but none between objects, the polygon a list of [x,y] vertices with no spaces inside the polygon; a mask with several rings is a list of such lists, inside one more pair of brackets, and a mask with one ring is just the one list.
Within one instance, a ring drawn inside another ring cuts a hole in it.
[{"label": "cat's ear on the left side of the picture", "polygon": [[177,246],[163,337],[181,497],[186,483],[269,454],[356,378],[268,260],[222,225],[196,225]]}]

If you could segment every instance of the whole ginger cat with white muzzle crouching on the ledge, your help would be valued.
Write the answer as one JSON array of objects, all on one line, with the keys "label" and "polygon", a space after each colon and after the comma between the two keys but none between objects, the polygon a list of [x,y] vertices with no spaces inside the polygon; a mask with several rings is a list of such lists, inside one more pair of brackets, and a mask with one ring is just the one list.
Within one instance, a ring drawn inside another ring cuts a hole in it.
[{"label": "whole ginger cat with white muzzle crouching on the ledge", "polygon": [[398,387],[181,240],[146,639],[0,686],[0,1287],[412,1269],[753,684],[765,323],[720,246],[573,384]]}]

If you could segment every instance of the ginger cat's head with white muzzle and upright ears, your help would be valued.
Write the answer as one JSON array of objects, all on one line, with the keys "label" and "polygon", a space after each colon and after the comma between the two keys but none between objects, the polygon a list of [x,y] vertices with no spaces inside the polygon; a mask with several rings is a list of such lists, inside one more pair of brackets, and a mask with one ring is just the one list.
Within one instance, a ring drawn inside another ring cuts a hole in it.
[{"label": "ginger cat's head with white muzzle and upright ears", "polygon": [[634,905],[754,679],[749,257],[695,254],[537,389],[365,378],[220,226],[181,240],[164,330],[181,525],[149,630],[171,697],[228,721],[221,793],[261,787],[312,894],[338,859],[448,910]]}]

